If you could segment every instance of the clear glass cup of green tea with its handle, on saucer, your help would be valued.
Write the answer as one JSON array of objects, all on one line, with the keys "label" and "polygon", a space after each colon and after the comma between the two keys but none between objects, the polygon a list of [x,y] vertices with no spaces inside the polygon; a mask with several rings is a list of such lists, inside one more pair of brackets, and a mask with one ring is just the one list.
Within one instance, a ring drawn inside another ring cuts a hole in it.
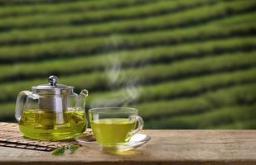
[{"label": "clear glass cup of green tea with its handle, on saucer", "polygon": [[[89,122],[97,142],[102,146],[122,145],[142,130],[143,120],[133,108],[94,108],[89,110]],[[138,122],[138,128],[136,128]]]}]

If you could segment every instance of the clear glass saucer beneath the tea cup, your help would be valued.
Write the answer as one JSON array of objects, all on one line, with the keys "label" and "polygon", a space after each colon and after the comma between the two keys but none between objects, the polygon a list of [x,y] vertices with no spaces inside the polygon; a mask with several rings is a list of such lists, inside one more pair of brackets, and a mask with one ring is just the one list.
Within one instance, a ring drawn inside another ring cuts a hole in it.
[{"label": "clear glass saucer beneath the tea cup", "polygon": [[[151,137],[147,134],[134,134],[128,143],[111,146],[101,146],[104,150],[118,150],[128,151],[134,148],[138,148],[143,144],[146,144]],[[80,135],[75,140],[83,146],[99,148],[100,145],[96,141],[88,140],[85,135]]]}]

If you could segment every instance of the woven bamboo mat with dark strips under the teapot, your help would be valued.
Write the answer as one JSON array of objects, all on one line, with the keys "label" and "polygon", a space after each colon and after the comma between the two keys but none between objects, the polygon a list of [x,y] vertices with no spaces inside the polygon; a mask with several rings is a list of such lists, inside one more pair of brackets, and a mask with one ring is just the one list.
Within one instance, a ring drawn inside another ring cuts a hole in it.
[{"label": "woven bamboo mat with dark strips under the teapot", "polygon": [[[93,135],[89,131],[89,138]],[[62,141],[41,141],[34,139],[27,139],[22,136],[18,130],[16,123],[0,122],[0,146],[12,148],[34,149],[40,151],[52,151],[63,145],[77,144],[75,140],[62,140]]]}]

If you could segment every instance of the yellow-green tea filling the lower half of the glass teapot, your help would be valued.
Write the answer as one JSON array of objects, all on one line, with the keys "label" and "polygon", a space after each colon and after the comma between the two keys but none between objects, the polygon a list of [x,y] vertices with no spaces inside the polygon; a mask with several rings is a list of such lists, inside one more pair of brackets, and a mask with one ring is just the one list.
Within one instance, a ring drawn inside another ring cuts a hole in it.
[{"label": "yellow-green tea filling the lower half of the glass teapot", "polygon": [[57,113],[46,110],[24,110],[19,125],[23,135],[31,139],[60,140],[74,138],[86,129],[85,111]]}]

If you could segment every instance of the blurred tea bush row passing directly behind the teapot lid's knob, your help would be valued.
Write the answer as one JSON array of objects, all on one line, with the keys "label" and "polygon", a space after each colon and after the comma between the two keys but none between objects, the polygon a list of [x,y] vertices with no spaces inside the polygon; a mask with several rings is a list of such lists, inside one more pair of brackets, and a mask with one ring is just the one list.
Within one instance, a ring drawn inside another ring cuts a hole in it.
[{"label": "blurred tea bush row passing directly behind the teapot lid's knob", "polygon": [[[168,79],[186,79],[195,75],[249,68],[255,66],[255,64],[255,52],[246,54],[246,58],[244,58],[244,53],[213,55],[207,58],[181,60],[181,62],[173,64],[152,64],[142,68],[120,70],[119,79],[115,83],[122,85],[128,80],[133,80],[133,82],[147,84],[149,82],[163,82]],[[108,74],[102,71],[63,76],[60,79],[61,83],[72,84],[78,89],[86,87],[93,92],[103,91],[109,87]],[[0,95],[0,101],[12,101],[20,89],[45,82],[46,78],[2,83],[0,91],[5,95]]]}]

